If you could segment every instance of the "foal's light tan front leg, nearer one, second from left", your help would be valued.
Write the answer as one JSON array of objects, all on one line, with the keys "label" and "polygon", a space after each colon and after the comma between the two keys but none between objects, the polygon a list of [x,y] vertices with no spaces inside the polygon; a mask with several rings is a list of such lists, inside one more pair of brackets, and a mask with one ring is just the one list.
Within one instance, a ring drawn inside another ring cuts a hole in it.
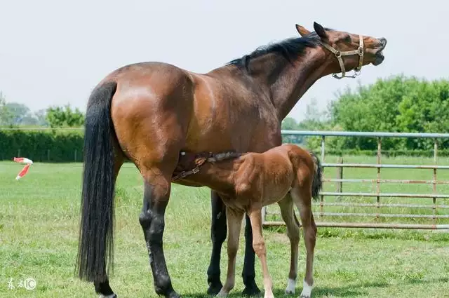
[{"label": "foal's light tan front leg, nearer one, second from left", "polygon": [[250,221],[251,226],[253,227],[253,248],[262,265],[265,291],[264,298],[274,298],[272,277],[269,276],[267,266],[267,248],[265,248],[265,241],[262,236],[262,212],[260,209],[252,210],[250,212]]}]

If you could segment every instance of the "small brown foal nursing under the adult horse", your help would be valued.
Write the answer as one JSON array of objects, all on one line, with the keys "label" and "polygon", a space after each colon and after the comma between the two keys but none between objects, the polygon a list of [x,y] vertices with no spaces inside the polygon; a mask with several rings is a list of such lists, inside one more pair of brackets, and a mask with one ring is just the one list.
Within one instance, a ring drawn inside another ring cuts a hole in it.
[{"label": "small brown foal nursing under the adult horse", "polygon": [[[314,284],[313,262],[316,225],[311,212],[311,198],[318,198],[321,189],[321,164],[312,153],[283,144],[264,153],[238,154],[226,152],[192,158],[182,152],[180,168],[199,168],[197,175],[208,176],[207,187],[217,191],[226,205],[229,238],[228,267],[225,285],[218,296],[226,296],[234,287],[236,254],[243,215],[248,214],[253,229],[253,249],[259,257],[264,278],[264,297],[274,297],[272,278],[267,267],[267,250],[262,236],[262,207],[279,203],[290,239],[290,273],[286,293],[295,292],[300,225],[293,203],[300,210],[307,250],[304,287],[300,297],[310,297]],[[192,164],[193,161],[193,164]],[[194,171],[195,173],[195,171]]]}]

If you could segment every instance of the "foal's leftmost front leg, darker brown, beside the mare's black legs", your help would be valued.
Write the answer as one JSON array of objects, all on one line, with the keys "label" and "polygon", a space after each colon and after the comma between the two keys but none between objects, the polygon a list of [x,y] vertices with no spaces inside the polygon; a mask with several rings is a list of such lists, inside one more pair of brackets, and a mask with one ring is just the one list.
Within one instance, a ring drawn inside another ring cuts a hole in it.
[{"label": "foal's leftmost front leg, darker brown, beside the mare's black legs", "polygon": [[227,276],[225,285],[223,285],[217,296],[224,297],[234,288],[236,275],[236,256],[239,250],[239,236],[241,229],[241,220],[244,212],[226,208],[227,224],[229,226],[229,236],[227,238]]}]

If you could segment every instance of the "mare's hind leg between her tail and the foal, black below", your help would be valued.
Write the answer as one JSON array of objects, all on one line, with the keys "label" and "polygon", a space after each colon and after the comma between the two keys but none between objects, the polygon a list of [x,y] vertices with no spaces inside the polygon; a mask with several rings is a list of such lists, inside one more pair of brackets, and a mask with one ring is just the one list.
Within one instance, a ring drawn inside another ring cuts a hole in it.
[{"label": "mare's hind leg between her tail and the foal, black below", "polygon": [[163,255],[162,237],[164,215],[170,198],[170,174],[159,168],[145,168],[142,176],[145,180],[145,191],[142,212],[139,221],[145,235],[149,253],[149,264],[152,268],[154,289],[156,294],[169,298],[179,298],[173,290],[168,275],[166,259]]}]

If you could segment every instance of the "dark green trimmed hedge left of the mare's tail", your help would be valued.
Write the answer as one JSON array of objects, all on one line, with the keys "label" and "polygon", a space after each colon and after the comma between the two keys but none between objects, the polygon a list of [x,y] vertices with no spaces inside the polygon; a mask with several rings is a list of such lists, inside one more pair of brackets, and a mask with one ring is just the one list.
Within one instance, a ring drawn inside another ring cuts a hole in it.
[{"label": "dark green trimmed hedge left of the mare's tail", "polygon": [[82,161],[83,130],[0,130],[0,160]]}]

